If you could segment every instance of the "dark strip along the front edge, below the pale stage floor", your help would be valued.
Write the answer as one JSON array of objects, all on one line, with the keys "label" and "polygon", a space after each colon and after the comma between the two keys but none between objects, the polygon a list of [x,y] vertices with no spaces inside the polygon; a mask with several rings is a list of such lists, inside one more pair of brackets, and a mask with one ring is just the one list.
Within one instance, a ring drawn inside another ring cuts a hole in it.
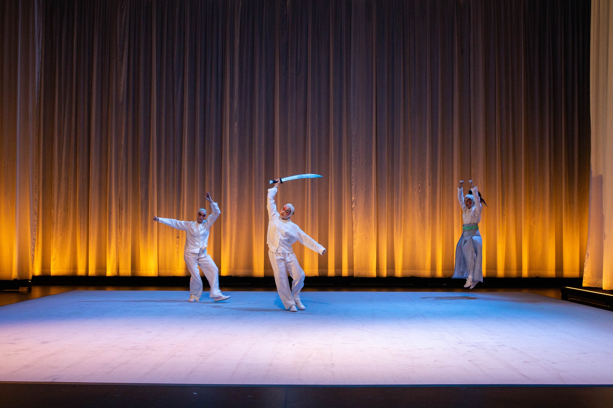
[{"label": "dark strip along the front edge, below the pale stage floor", "polygon": [[0,382],[2,407],[590,407],[609,385],[168,385]]}]

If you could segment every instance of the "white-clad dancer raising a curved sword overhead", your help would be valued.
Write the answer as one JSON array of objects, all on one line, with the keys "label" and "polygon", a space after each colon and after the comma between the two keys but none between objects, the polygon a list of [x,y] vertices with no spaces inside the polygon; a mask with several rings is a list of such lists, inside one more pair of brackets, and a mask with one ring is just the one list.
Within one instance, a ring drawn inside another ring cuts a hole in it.
[{"label": "white-clad dancer raising a curved sword overhead", "polygon": [[[305,273],[296,259],[292,243],[299,241],[305,247],[321,255],[326,253],[326,248],[292,223],[291,217],[294,215],[292,204],[285,204],[281,213],[277,211],[275,195],[279,185],[280,179],[277,179],[275,185],[268,189],[268,258],[270,258],[270,264],[275,273],[276,290],[281,302],[286,309],[295,312],[296,308],[305,310],[305,306],[300,301],[300,289],[304,286]],[[292,276],[291,290],[287,275]]]}]

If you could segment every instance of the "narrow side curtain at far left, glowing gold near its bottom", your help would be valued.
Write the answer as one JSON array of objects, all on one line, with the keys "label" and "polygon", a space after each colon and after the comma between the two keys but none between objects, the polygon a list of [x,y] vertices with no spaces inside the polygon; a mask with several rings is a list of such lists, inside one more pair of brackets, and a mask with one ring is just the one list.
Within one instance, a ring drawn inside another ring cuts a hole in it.
[{"label": "narrow side curtain at far left, glowing gold near its bottom", "polygon": [[40,273],[42,1],[0,5],[0,279]]}]

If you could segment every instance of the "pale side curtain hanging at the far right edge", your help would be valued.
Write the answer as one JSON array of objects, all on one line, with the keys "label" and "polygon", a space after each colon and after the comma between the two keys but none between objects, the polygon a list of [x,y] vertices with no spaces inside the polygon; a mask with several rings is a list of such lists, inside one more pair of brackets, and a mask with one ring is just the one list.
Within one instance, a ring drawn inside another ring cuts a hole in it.
[{"label": "pale side curtain hanging at the far right edge", "polygon": [[584,286],[613,289],[613,7],[592,0],[590,221]]}]

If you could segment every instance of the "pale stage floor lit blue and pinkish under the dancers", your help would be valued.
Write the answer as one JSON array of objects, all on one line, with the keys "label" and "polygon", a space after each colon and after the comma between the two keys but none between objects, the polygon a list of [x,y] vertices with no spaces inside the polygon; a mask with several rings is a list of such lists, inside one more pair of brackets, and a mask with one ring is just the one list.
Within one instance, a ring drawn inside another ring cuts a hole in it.
[{"label": "pale stage floor lit blue and pinkish under the dancers", "polygon": [[612,384],[613,314],[525,292],[71,291],[0,307],[0,381]]}]

